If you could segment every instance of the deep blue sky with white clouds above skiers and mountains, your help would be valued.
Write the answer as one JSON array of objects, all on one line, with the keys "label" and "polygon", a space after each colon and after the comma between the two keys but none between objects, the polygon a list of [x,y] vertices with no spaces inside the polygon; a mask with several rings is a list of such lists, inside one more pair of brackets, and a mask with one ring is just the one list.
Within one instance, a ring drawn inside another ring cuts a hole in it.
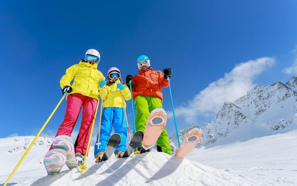
[{"label": "deep blue sky with white clouds above skiers and mountains", "polygon": [[[62,97],[60,78],[90,48],[104,75],[113,66],[136,75],[142,54],[154,70],[172,68],[178,129],[204,126],[225,101],[295,76],[296,8],[293,0],[0,1],[0,137],[36,135]],[[64,114],[65,101],[41,136],[54,136]]]}]

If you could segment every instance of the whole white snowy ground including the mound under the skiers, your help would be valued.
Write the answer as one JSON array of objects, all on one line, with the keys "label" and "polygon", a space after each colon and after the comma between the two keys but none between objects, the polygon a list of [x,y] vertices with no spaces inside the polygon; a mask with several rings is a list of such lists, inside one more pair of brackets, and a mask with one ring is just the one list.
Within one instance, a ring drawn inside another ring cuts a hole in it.
[{"label": "whole white snowy ground including the mound under the skiers", "polygon": [[[243,131],[244,128],[238,129],[237,133]],[[232,142],[233,138],[224,138],[223,145],[194,149],[184,159],[152,151],[118,160],[113,156],[106,162],[95,163],[91,147],[88,169],[83,175],[79,168],[68,170],[64,166],[60,174],[47,176],[42,162],[50,139],[39,137],[39,143],[32,147],[8,185],[297,185],[297,129],[287,128],[283,133],[236,142]],[[0,139],[2,167],[6,167],[0,170],[0,185],[23,155],[24,143],[33,139]],[[13,151],[16,147],[20,150]]]}]

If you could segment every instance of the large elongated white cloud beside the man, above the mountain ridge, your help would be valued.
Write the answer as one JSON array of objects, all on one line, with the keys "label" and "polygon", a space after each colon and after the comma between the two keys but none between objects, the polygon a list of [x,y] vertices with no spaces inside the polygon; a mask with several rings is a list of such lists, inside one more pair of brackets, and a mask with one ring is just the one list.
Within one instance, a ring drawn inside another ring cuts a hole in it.
[{"label": "large elongated white cloud beside the man, above the mountain ridge", "polygon": [[[199,115],[215,114],[224,102],[234,102],[237,98],[252,90],[256,84],[255,77],[267,67],[274,64],[275,59],[262,57],[237,64],[231,72],[225,73],[223,78],[209,84],[207,88],[188,101],[188,105],[175,108],[175,115],[184,116],[187,122],[193,123]],[[172,113],[169,113],[172,117]]]}]

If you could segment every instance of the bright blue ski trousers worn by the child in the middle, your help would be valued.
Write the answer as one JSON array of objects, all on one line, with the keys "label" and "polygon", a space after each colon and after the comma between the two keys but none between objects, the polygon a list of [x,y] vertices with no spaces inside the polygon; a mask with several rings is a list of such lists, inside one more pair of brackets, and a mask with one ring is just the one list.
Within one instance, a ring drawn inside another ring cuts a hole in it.
[{"label": "bright blue ski trousers worn by the child in the middle", "polygon": [[[121,136],[121,143],[114,153],[116,154],[118,151],[126,150],[127,122],[125,119],[124,109],[119,107],[105,107],[102,111],[100,127],[99,140],[101,144],[99,145],[99,149],[97,149],[97,145],[95,144],[95,157],[98,152],[105,151],[107,141],[110,137],[110,133],[112,132],[112,126],[114,128],[114,132]],[[98,135],[96,143],[98,143]]]}]

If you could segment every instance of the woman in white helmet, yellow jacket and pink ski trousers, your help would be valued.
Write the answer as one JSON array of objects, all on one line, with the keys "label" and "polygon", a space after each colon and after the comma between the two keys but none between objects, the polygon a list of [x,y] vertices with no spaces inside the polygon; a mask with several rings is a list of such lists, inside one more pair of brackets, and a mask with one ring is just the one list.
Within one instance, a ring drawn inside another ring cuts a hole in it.
[{"label": "woman in white helmet, yellow jacket and pink ski trousers", "polygon": [[[103,74],[97,70],[100,54],[95,49],[86,51],[85,60],[70,66],[60,80],[62,93],[68,93],[66,112],[63,123],[60,125],[56,136],[70,136],[83,108],[81,127],[75,144],[76,161],[80,166],[84,162],[86,148],[90,138],[91,126],[99,97],[99,82]],[[74,79],[73,84],[70,82]],[[50,150],[53,147],[50,147]]]}]

